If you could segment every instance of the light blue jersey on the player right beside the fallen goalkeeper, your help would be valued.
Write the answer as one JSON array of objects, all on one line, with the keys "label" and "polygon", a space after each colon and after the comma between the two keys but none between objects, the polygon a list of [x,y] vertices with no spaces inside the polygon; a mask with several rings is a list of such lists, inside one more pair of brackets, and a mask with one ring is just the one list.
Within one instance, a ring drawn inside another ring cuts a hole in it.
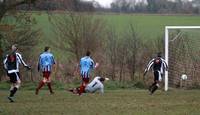
[{"label": "light blue jersey on the player right beside the fallen goalkeeper", "polygon": [[81,58],[80,61],[81,76],[83,78],[89,78],[91,69],[94,69],[94,61],[89,56]]}]

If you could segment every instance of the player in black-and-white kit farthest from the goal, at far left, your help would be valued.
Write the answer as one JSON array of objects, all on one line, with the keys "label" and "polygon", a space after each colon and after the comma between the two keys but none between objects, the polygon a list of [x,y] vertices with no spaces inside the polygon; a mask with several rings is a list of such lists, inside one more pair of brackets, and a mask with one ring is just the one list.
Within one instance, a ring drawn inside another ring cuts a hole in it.
[{"label": "player in black-and-white kit farthest from the goal, at far left", "polygon": [[18,51],[17,44],[12,45],[11,50],[12,50],[11,53],[6,56],[3,63],[4,63],[4,69],[6,70],[7,75],[10,78],[11,82],[10,95],[8,96],[8,99],[10,100],[10,102],[14,102],[13,99],[14,95],[19,89],[21,84],[19,65],[23,64],[23,66],[26,67],[27,69],[31,68],[24,62],[21,54],[17,52]]}]

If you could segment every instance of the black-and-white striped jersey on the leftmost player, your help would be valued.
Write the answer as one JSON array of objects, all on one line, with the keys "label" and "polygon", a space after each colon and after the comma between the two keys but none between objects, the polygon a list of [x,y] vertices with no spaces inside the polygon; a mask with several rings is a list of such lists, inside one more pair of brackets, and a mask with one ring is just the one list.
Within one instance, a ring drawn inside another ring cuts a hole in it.
[{"label": "black-and-white striped jersey on the leftmost player", "polygon": [[23,64],[23,66],[27,67],[28,65],[22,59],[21,54],[14,52],[6,56],[3,61],[4,68],[8,73],[19,72],[19,65]]}]

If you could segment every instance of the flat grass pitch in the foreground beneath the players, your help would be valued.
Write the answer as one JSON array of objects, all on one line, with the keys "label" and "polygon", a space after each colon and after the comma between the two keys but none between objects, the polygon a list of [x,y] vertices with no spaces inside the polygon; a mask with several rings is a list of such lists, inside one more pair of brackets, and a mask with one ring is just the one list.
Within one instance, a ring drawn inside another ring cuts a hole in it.
[{"label": "flat grass pitch in the foreground beneath the players", "polygon": [[0,115],[199,115],[199,90],[157,91],[106,90],[104,95],[81,97],[66,91],[49,95],[42,90],[20,90],[9,103],[7,91],[0,91]]}]

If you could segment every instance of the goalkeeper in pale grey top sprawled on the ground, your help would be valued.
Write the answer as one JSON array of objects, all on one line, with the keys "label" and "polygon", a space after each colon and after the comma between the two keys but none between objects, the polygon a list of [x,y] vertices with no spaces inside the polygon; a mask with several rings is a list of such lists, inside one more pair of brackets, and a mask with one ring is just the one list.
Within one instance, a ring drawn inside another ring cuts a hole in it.
[{"label": "goalkeeper in pale grey top sprawled on the ground", "polygon": [[[85,87],[85,93],[95,93],[97,91],[99,91],[101,94],[104,93],[104,81],[109,80],[109,78],[103,78],[103,77],[95,77],[91,83],[89,83],[88,85],[86,85]],[[70,92],[73,92],[74,94],[78,94],[79,93],[80,88],[73,88],[70,89]]]}]

